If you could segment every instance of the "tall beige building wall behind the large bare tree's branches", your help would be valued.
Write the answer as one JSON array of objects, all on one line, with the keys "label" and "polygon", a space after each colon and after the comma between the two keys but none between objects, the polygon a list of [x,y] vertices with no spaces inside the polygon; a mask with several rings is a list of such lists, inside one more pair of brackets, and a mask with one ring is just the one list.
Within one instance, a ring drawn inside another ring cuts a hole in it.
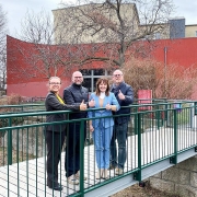
[{"label": "tall beige building wall behind the large bare tree's branches", "polygon": [[[58,43],[112,43],[121,34],[120,20],[113,9],[100,3],[69,7],[53,10],[56,26],[55,39]],[[121,4],[120,15],[127,34],[135,35],[139,31],[139,18],[134,3]]]}]

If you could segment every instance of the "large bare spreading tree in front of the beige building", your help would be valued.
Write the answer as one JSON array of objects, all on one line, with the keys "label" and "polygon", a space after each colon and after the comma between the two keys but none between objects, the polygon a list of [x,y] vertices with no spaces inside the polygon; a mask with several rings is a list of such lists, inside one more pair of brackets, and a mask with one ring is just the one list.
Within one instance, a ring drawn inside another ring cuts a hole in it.
[{"label": "large bare spreading tree in front of the beige building", "polygon": [[[79,1],[77,7],[62,4],[61,10],[54,11],[56,21],[61,21],[56,43],[91,43],[92,47],[100,43],[100,50],[105,56],[86,55],[84,60],[123,67],[134,43],[150,40],[155,33],[169,36],[166,22],[172,11],[171,0],[105,0],[103,3],[91,0]],[[135,50],[147,54],[142,48],[138,45]]]}]

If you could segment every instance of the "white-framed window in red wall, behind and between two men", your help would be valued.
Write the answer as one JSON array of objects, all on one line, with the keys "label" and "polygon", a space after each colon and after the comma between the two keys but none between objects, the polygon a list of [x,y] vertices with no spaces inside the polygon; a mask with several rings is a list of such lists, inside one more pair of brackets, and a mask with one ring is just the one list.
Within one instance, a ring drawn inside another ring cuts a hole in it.
[{"label": "white-framed window in red wall, behind and between two men", "polygon": [[108,71],[104,70],[104,69],[92,69],[92,70],[88,70],[88,69],[83,69],[80,70],[80,72],[83,74],[83,86],[85,86],[86,89],[89,89],[89,92],[94,92],[95,91],[95,84],[97,79],[104,77],[104,76],[108,76]]}]

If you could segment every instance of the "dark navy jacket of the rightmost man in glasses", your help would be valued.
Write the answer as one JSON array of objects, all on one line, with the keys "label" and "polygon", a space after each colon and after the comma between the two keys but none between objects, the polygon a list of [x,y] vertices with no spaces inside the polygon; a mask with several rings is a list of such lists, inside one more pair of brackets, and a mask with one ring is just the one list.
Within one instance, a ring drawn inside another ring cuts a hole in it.
[{"label": "dark navy jacket of the rightmost man in glasses", "polygon": [[[125,95],[125,100],[119,100],[119,97],[118,97],[119,90]],[[132,104],[132,102],[134,102],[132,88],[129,84],[123,82],[118,86],[113,85],[111,91],[115,94],[115,96],[120,105],[120,109],[117,112],[114,112],[114,115],[130,114],[130,107],[123,108],[123,106],[128,106],[128,105]],[[115,118],[115,124],[124,124],[124,123],[129,121],[129,119],[130,119],[130,116],[119,116],[119,117]]]}]

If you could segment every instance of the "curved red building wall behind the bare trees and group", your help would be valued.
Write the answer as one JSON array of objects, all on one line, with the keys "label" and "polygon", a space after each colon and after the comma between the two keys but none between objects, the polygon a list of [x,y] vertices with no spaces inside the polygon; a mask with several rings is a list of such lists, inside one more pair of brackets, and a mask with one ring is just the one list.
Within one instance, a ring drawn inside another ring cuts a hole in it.
[{"label": "curved red building wall behind the bare trees and group", "polygon": [[[144,43],[144,42],[143,42]],[[139,44],[139,43],[138,43]],[[97,44],[100,45],[100,44]],[[155,59],[166,65],[179,65],[188,68],[190,66],[197,69],[197,38],[182,38],[182,39],[159,39],[153,40],[150,44],[151,48],[148,54],[149,58]],[[85,45],[89,48],[89,45]],[[39,49],[49,47],[50,50],[59,51],[60,46],[39,45]],[[22,96],[46,96],[48,76],[45,73],[46,68],[42,61],[35,61],[38,56],[35,44],[22,42],[13,37],[7,36],[7,94],[20,94]],[[95,51],[94,51],[95,53]],[[68,53],[60,53],[62,56]],[[105,56],[104,51],[97,51],[97,54]],[[33,61],[33,58],[34,61]],[[48,63],[55,63],[56,57],[48,56]],[[69,61],[68,57],[63,57],[66,62]],[[32,62],[36,62],[34,69]],[[106,67],[103,62],[91,62],[85,65],[85,68]],[[39,70],[37,70],[39,68]],[[51,68],[50,68],[51,69]],[[62,80],[62,90],[70,84],[71,72],[79,68],[72,65],[72,70],[67,66],[63,69],[62,66],[58,67],[57,74]],[[42,72],[43,70],[43,72]],[[20,71],[20,72],[19,72]],[[62,76],[61,73],[66,73]],[[61,77],[62,76],[62,77]],[[61,90],[61,91],[62,91]],[[194,94],[193,99],[197,99],[197,94]]]}]

